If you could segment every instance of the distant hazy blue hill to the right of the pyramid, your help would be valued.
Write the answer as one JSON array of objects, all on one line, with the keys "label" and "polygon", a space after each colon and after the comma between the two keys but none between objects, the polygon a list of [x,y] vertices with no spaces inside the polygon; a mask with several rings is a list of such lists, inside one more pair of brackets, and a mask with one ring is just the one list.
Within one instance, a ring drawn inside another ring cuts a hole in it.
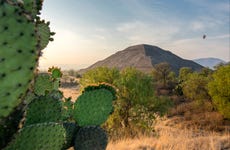
[{"label": "distant hazy blue hill to the right of the pyramid", "polygon": [[199,59],[194,59],[196,63],[204,66],[204,67],[209,67],[213,69],[214,66],[220,64],[220,63],[226,63],[225,61],[219,59],[219,58],[199,58]]}]

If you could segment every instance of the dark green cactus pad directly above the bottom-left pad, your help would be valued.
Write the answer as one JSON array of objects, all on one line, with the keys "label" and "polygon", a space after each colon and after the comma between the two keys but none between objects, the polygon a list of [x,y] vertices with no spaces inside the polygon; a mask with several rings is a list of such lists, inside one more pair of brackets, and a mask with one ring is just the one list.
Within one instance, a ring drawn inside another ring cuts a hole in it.
[{"label": "dark green cactus pad directly above the bottom-left pad", "polygon": [[28,105],[25,126],[43,122],[60,122],[61,120],[61,102],[51,96],[40,96]]}]

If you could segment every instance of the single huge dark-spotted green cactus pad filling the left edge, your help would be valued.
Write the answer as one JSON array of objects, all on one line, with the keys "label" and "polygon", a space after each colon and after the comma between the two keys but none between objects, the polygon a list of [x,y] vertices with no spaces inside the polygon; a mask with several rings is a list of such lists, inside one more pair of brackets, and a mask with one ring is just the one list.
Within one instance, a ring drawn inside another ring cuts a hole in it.
[{"label": "single huge dark-spotted green cactus pad filling the left edge", "polygon": [[21,8],[0,1],[0,118],[21,102],[37,66],[35,23]]}]

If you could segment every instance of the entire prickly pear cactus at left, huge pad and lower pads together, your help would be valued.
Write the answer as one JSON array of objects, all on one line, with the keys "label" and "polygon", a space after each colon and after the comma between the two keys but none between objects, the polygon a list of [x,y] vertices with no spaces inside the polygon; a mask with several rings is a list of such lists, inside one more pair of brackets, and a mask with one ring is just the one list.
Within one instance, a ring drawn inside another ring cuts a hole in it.
[{"label": "entire prickly pear cactus at left, huge pad and lower pads together", "polygon": [[13,125],[17,111],[24,113],[21,129],[7,146],[2,144],[4,148],[0,141],[0,149],[61,150],[73,146],[103,150],[107,135],[100,125],[113,112],[115,90],[107,84],[88,86],[72,102],[58,90],[60,69],[37,73],[42,49],[54,35],[49,23],[38,16],[42,2],[0,0],[0,136],[6,136],[4,129]]}]

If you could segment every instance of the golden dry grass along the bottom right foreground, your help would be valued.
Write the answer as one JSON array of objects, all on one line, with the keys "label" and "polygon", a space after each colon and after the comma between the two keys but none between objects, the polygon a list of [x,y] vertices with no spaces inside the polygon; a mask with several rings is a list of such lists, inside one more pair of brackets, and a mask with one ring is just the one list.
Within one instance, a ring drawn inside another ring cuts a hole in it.
[{"label": "golden dry grass along the bottom right foreground", "polygon": [[[158,121],[157,137],[139,137],[110,142],[107,150],[230,150],[230,134],[182,130],[172,124],[177,119]],[[173,122],[173,123],[172,123]]]}]

